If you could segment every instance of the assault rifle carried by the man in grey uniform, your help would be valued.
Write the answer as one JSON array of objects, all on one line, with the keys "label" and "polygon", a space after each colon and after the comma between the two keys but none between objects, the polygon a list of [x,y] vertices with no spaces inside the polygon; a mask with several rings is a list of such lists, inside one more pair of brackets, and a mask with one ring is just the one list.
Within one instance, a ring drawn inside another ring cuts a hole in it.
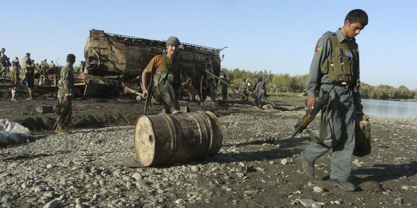
[{"label": "assault rifle carried by the man in grey uniform", "polygon": [[[332,88],[329,90],[329,92],[324,92],[322,93],[323,95],[317,100],[316,105],[314,106],[313,109],[307,109],[306,115],[303,116],[303,118],[301,118],[296,125],[294,126],[294,134],[293,134],[293,139],[295,137],[295,135],[297,135],[298,133],[303,132],[303,130],[307,129],[307,126],[314,120],[314,118],[316,117],[316,115],[325,107],[327,106],[327,104],[329,103],[330,100],[330,95],[329,93],[333,90],[333,88],[336,86],[336,84],[338,84],[340,81],[342,80],[342,75],[339,74],[339,80],[333,84]],[[306,130],[308,131],[308,130]],[[313,138],[312,138],[313,139]],[[317,142],[317,141],[315,141]]]}]

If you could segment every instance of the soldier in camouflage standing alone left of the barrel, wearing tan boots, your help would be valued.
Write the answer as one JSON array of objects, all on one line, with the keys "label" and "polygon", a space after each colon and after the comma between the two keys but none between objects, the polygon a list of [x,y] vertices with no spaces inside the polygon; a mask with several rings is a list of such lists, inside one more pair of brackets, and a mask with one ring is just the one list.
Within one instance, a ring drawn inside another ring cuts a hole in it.
[{"label": "soldier in camouflage standing alone left of the barrel, wearing tan boots", "polygon": [[61,120],[58,122],[55,132],[58,134],[70,134],[68,130],[69,123],[72,116],[72,97],[74,89],[74,68],[75,55],[68,54],[66,56],[66,65],[61,69],[61,78],[58,81],[58,104],[64,105],[64,108],[59,108]]}]

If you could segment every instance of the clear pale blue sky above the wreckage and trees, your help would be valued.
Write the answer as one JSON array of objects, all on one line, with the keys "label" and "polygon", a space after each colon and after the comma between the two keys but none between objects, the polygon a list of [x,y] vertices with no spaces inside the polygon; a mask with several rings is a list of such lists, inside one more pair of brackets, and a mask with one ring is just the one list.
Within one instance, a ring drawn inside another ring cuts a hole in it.
[{"label": "clear pale blue sky above the wreckage and trees", "polygon": [[[334,6],[337,5],[337,8]],[[369,23],[356,37],[361,81],[417,89],[416,0],[2,0],[0,47],[20,60],[84,60],[90,29],[225,48],[221,66],[302,75],[317,40],[356,8]],[[15,9],[13,9],[15,8]]]}]

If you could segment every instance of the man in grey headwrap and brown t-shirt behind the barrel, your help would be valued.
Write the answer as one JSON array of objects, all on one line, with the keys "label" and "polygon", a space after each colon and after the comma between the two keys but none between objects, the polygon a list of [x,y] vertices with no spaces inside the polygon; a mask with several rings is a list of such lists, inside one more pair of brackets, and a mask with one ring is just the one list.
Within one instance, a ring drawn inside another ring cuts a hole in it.
[{"label": "man in grey headwrap and brown t-shirt behind the barrel", "polygon": [[[191,90],[198,102],[201,101],[191,79],[182,69],[182,62],[176,58],[179,44],[177,37],[169,37],[166,41],[166,53],[153,57],[142,72],[143,96],[147,97],[152,93],[157,102],[164,102],[166,113],[181,113],[178,94],[184,86]],[[153,80],[150,80],[152,87],[146,85],[150,73],[154,74]],[[152,88],[152,91],[148,92],[148,88]]]}]

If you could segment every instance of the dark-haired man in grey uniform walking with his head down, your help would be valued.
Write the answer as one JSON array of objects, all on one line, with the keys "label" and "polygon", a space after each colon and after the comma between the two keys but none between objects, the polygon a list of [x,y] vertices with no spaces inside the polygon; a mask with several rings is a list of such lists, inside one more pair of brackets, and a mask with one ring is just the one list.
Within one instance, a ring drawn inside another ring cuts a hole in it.
[{"label": "dark-haired man in grey uniform walking with his head down", "polygon": [[[303,170],[314,176],[315,160],[333,148],[329,183],[342,190],[354,191],[348,182],[355,147],[355,112],[362,110],[359,93],[359,51],[355,36],[368,24],[364,10],[354,9],[345,18],[342,28],[325,33],[317,42],[309,77],[306,81],[307,105],[316,104],[315,90],[329,92],[330,101],[322,110],[320,138],[301,152]],[[340,84],[339,84],[340,83]]]}]

